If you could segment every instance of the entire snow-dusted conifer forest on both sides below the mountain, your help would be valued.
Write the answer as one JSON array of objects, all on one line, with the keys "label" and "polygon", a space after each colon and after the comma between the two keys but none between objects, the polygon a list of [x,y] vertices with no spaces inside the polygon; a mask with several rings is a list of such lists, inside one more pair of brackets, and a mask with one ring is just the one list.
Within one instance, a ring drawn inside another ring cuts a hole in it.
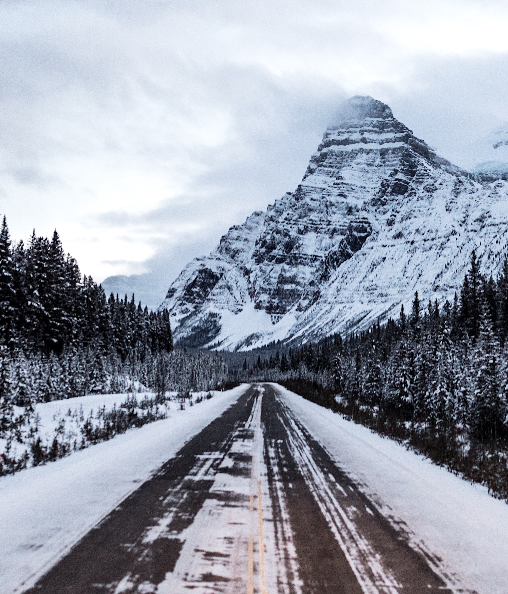
[{"label": "entire snow-dusted conifer forest on both sides below the mountain", "polygon": [[[191,391],[276,381],[508,499],[507,337],[508,260],[486,278],[473,252],[453,302],[422,304],[416,292],[410,311],[368,331],[246,353],[174,348],[167,310],[143,309],[134,296],[106,298],[81,277],[57,232],[11,245],[4,218],[0,473],[164,418],[169,393],[184,402]],[[36,403],[108,393],[131,396],[82,419],[73,444],[63,431],[42,443]],[[17,443],[29,445],[21,457],[11,455]]]}]

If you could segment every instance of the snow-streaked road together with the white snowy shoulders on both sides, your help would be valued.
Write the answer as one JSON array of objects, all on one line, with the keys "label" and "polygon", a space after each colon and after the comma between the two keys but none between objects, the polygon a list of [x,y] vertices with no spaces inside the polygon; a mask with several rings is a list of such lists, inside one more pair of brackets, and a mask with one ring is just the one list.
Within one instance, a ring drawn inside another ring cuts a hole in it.
[{"label": "snow-streaked road together with the white snowy shoulders on both sides", "polygon": [[2,594],[508,591],[506,504],[277,384],[2,479],[0,522]]}]

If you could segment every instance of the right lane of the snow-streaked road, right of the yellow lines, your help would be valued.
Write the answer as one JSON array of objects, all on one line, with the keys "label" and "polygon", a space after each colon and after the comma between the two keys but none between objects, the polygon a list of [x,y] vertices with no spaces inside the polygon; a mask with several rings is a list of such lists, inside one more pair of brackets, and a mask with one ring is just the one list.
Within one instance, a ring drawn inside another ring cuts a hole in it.
[{"label": "right lane of the snow-streaked road, right of the yellow lines", "polygon": [[[268,484],[274,493],[275,464],[290,516],[302,592],[417,594],[439,590],[451,594],[424,555],[409,546],[337,467],[274,388],[265,384],[265,391],[261,420]],[[280,506],[271,498],[277,533],[283,520]]]}]

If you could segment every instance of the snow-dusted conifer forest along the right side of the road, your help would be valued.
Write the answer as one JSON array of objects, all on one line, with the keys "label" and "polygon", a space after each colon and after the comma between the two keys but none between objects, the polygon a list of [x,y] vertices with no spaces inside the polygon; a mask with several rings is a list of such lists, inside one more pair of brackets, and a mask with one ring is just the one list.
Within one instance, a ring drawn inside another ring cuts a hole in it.
[{"label": "snow-dusted conifer forest along the right side of the road", "polygon": [[249,353],[236,381],[277,381],[403,441],[508,500],[508,261],[485,278],[473,252],[453,302],[368,331]]}]

